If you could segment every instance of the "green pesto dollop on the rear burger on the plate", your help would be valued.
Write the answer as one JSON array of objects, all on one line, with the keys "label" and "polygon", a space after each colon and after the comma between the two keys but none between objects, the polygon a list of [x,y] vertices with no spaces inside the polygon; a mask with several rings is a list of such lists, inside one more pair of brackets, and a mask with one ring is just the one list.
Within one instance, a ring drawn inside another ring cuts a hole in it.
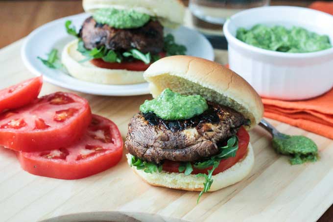
[{"label": "green pesto dollop on the rear burger on the plate", "polygon": [[134,10],[101,8],[94,12],[95,21],[114,28],[138,28],[150,20],[150,16]]}]

